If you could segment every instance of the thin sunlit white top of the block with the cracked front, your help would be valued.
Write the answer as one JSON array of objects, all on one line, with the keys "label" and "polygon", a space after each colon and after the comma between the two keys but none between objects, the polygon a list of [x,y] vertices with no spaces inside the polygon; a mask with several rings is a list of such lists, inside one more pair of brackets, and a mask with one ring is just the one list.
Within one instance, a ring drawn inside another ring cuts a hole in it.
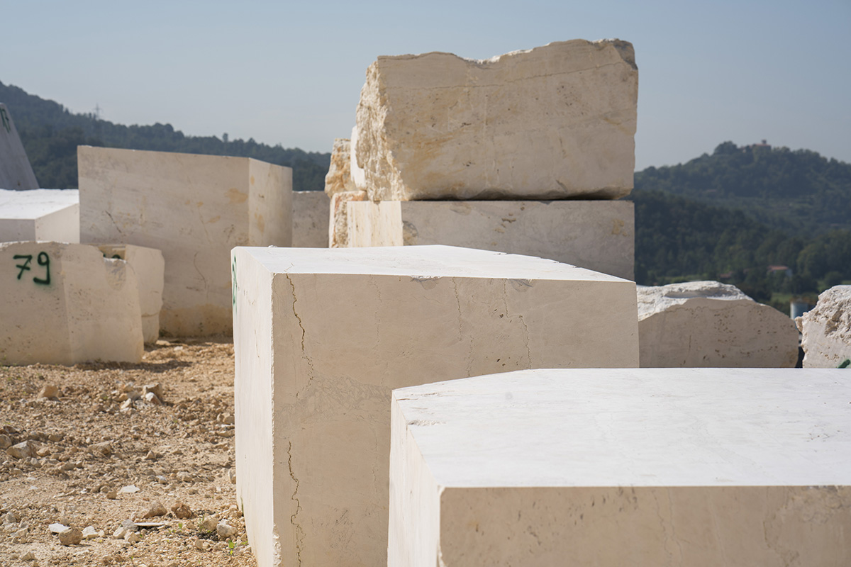
[{"label": "thin sunlit white top of the block with the cracked front", "polygon": [[363,248],[249,248],[271,273],[400,275],[505,278],[518,286],[531,280],[626,282],[614,275],[555,260],[449,246]]}]

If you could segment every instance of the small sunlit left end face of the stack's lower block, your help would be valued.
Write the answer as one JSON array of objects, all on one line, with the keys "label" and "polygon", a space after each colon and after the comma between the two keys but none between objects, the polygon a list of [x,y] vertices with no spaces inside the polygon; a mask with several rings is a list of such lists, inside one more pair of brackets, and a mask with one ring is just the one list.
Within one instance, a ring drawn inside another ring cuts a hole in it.
[{"label": "small sunlit left end face of the stack's lower block", "polygon": [[349,247],[403,245],[402,208],[399,201],[346,204]]}]

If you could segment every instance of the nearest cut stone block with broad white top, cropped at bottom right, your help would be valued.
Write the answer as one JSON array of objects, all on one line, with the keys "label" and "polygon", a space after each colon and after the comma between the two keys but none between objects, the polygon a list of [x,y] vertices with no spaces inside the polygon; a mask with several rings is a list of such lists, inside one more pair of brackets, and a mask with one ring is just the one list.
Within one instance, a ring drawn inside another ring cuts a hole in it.
[{"label": "nearest cut stone block with broad white top, cropped at bottom right", "polygon": [[848,400],[796,369],[398,389],[388,565],[851,564]]}]

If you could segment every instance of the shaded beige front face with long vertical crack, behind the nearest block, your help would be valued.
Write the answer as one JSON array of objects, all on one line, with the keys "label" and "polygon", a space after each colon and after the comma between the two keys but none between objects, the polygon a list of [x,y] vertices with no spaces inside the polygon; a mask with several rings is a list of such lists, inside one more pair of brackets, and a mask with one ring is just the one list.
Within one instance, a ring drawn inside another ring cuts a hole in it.
[{"label": "shaded beige front face with long vertical crack, behind the nearest block", "polygon": [[386,562],[391,389],[524,368],[637,366],[630,281],[277,274],[273,288],[285,564]]}]

